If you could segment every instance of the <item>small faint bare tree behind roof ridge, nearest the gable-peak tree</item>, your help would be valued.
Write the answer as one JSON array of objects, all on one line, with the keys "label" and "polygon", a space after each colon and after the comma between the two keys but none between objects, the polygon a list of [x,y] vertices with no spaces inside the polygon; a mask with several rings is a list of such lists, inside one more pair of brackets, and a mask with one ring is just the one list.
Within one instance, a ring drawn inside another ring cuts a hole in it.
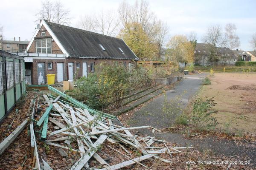
[{"label": "small faint bare tree behind roof ridge, nearest the gable-peak tree", "polygon": [[92,16],[86,15],[80,17],[77,27],[86,31],[95,31],[95,21]]}]

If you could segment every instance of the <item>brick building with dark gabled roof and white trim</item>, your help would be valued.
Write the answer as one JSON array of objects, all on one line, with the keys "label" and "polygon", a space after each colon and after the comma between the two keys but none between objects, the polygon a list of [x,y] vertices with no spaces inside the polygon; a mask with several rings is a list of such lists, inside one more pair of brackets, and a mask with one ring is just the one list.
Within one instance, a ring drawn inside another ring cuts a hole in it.
[{"label": "brick building with dark gabled roof and white trim", "polygon": [[101,62],[116,61],[132,67],[137,56],[122,39],[41,20],[25,54],[26,82],[46,84],[73,80],[95,71]]}]

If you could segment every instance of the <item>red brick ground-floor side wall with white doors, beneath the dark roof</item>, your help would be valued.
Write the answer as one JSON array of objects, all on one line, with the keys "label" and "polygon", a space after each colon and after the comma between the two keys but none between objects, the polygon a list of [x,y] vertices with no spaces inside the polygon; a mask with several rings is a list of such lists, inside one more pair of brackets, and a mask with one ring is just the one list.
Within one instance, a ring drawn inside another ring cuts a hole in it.
[{"label": "red brick ground-floor side wall with white doors, beneath the dark roof", "polygon": [[[126,62],[126,67],[128,68],[128,63],[132,62],[128,59],[75,59],[75,58],[66,58],[66,59],[33,59],[32,66],[32,84],[38,84],[38,62],[44,62],[44,81],[47,83],[46,74],[55,74],[55,83],[57,83],[57,63],[63,62],[63,79],[68,80],[68,63],[73,62],[73,74],[75,74],[75,79],[78,79],[83,76],[83,62],[87,62],[87,74],[89,74],[91,62],[94,62],[95,65],[99,65],[101,62],[118,62],[120,65],[123,65],[123,62]],[[52,62],[52,70],[47,69],[47,63]],[[76,63],[80,62],[80,68],[76,68]]]}]

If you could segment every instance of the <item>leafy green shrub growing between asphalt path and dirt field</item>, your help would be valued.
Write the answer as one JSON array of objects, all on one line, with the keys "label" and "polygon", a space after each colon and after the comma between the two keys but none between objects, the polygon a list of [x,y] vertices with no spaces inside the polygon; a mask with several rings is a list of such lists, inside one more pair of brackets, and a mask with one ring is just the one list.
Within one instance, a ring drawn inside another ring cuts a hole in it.
[{"label": "leafy green shrub growing between asphalt path and dirt field", "polygon": [[218,111],[213,110],[215,106],[214,97],[203,101],[201,98],[196,99],[192,105],[192,124],[195,130],[210,130],[215,128],[217,125],[217,120],[212,117],[213,113],[218,113]]}]

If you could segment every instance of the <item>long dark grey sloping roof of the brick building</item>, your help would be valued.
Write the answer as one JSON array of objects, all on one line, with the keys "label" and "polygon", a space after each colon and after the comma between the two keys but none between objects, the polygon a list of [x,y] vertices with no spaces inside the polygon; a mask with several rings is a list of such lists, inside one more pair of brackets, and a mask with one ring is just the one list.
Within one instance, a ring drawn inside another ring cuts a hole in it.
[{"label": "long dark grey sloping roof of the brick building", "polygon": [[[122,39],[47,21],[45,23],[47,23],[70,57],[138,59]],[[102,50],[100,45],[105,50]]]}]

